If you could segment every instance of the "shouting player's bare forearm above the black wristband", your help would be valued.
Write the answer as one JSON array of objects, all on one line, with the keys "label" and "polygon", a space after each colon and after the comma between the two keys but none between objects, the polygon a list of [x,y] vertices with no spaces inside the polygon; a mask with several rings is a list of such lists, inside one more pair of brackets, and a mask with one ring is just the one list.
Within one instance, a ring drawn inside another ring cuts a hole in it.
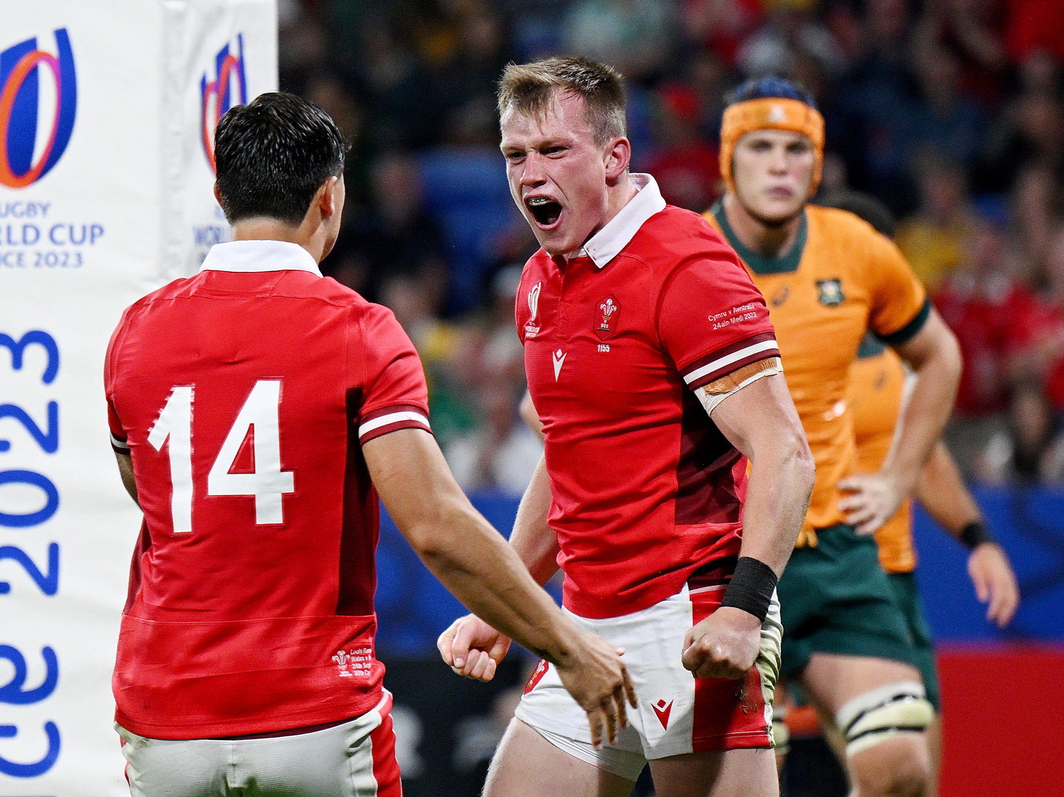
[{"label": "shouting player's bare forearm above the black wristband", "polygon": [[777,576],[783,574],[809,509],[814,478],[813,455],[801,427],[754,448],[739,556],[764,562]]}]

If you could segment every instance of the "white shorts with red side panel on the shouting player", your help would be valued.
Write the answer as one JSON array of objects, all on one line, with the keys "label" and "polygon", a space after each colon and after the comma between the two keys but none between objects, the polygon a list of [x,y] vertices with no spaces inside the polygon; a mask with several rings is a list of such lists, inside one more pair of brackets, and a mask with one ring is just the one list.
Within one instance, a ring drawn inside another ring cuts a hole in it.
[{"label": "white shorts with red side panel on the shouting player", "polygon": [[515,716],[576,758],[629,780],[648,760],[704,750],[772,746],[772,693],[780,668],[780,605],[772,595],[761,626],[761,651],[745,678],[695,678],[681,661],[687,630],[720,605],[724,584],[691,589],[642,611],[587,620],[566,610],[579,628],[625,648],[638,708],[617,744],[592,747],[587,715],[565,691],[558,671],[541,661]]}]

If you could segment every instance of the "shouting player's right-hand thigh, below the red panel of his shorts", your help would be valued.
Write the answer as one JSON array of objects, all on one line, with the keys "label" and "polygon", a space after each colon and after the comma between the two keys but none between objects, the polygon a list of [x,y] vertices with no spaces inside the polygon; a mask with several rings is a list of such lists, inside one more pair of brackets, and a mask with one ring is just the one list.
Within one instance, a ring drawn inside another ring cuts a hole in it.
[{"label": "shouting player's right-hand thigh, below the red panel of his shorts", "polygon": [[778,797],[770,749],[693,752],[650,762],[658,797]]}]

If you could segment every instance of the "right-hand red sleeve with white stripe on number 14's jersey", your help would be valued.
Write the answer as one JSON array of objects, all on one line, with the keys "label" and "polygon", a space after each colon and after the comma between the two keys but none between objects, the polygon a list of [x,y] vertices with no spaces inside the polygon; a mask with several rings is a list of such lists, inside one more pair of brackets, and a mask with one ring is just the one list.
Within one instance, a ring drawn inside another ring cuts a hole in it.
[{"label": "right-hand red sleeve with white stripe on number 14's jersey", "polygon": [[429,391],[421,359],[392,310],[368,305],[362,319],[362,403],[354,423],[359,442],[399,429],[429,426]]}]

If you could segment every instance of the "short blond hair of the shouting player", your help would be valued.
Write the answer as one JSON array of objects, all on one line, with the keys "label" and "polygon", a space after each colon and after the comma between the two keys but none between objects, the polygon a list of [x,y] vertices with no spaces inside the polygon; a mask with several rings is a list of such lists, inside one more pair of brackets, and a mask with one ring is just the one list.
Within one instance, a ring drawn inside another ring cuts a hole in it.
[{"label": "short blond hair of the shouting player", "polygon": [[626,134],[624,79],[612,66],[588,58],[508,64],[499,81],[499,117],[508,111],[542,116],[555,92],[583,98],[596,143]]}]

